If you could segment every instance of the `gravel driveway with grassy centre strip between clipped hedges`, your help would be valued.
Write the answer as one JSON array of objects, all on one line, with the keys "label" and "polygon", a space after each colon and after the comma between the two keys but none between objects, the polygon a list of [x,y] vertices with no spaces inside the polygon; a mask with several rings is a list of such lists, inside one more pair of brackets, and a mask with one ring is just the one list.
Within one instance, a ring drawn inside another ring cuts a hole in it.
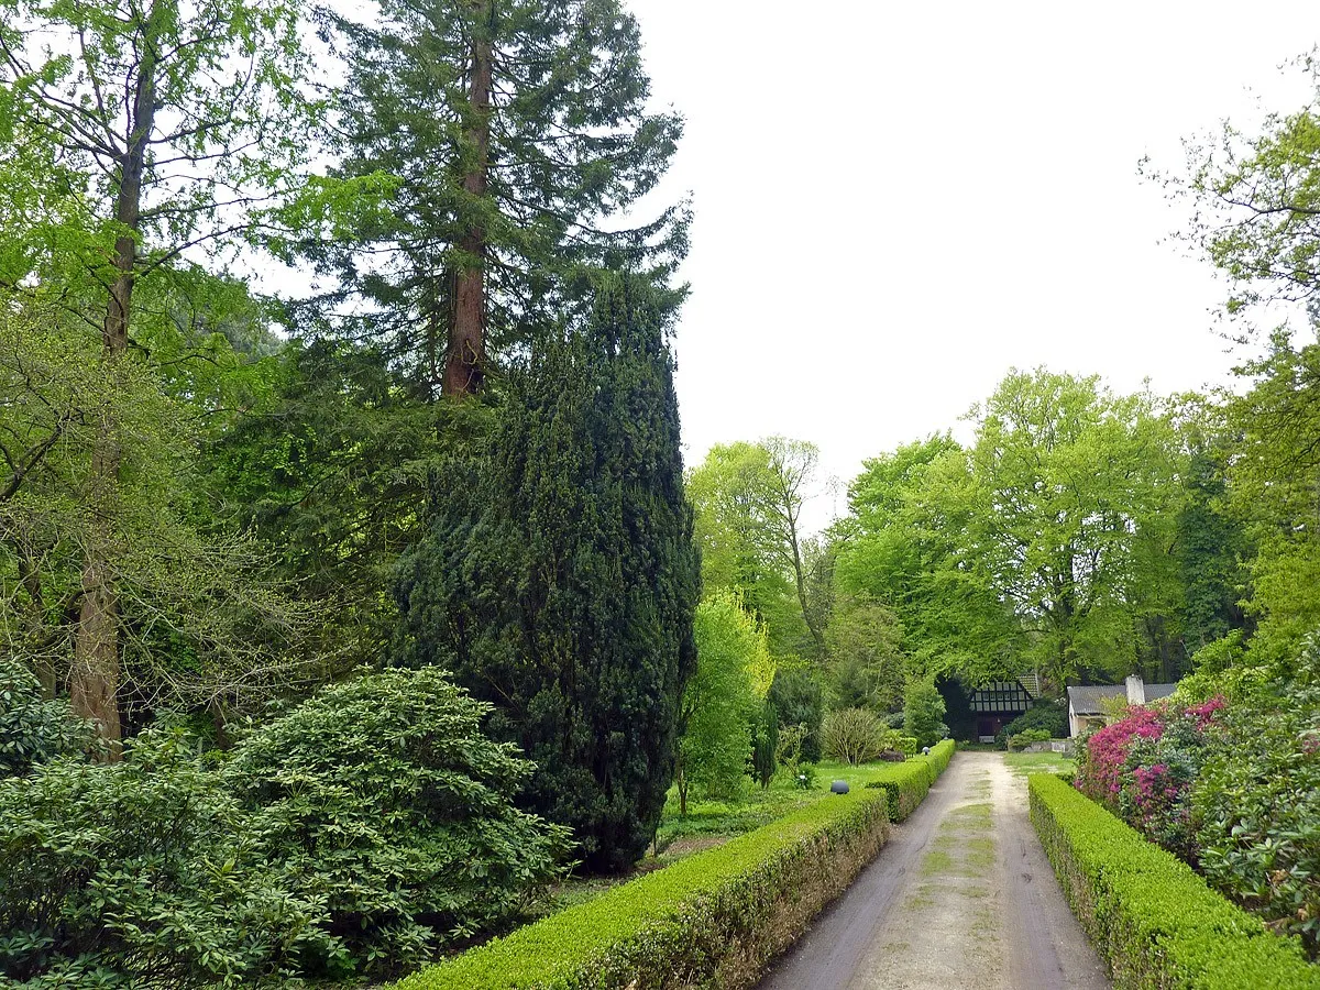
[{"label": "gravel driveway with grassy centre strip between clipped hedges", "polygon": [[1104,990],[1027,816],[1026,779],[960,752],[760,990]]}]

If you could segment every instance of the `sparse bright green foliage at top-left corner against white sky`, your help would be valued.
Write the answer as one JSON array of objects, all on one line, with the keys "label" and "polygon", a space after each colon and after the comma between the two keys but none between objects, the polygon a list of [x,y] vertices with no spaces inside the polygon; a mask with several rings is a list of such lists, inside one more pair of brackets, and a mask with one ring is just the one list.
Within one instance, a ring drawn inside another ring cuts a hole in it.
[{"label": "sparse bright green foliage at top-left corner against white sky", "polygon": [[[178,273],[173,290],[185,289],[189,260],[276,224],[300,189],[317,108],[300,95],[296,4],[5,0],[0,21],[0,161],[11,165],[0,203],[18,207],[0,211],[24,230],[5,239],[0,285],[37,275],[36,292],[71,293],[65,304],[96,326],[117,238],[135,234],[137,288],[162,300],[170,290],[150,282]],[[140,201],[121,185],[135,154]],[[66,181],[22,168],[49,160]]]}]

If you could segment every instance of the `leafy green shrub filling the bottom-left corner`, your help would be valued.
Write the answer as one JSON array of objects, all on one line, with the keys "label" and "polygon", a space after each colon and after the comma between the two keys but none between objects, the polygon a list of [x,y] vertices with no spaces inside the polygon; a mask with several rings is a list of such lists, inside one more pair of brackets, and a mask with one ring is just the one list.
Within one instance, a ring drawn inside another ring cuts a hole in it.
[{"label": "leafy green shrub filling the bottom-left corner", "polygon": [[29,987],[281,982],[341,954],[181,733],[0,780],[0,974]]}]

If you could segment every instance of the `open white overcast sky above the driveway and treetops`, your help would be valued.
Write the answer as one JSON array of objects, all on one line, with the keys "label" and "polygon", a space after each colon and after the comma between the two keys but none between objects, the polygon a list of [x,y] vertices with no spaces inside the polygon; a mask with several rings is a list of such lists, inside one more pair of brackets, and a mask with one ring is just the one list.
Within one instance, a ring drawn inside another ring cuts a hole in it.
[{"label": "open white overcast sky above the driveway and treetops", "polygon": [[1137,164],[1299,108],[1278,66],[1320,41],[1320,7],[627,3],[657,103],[688,120],[663,191],[696,205],[689,465],[783,433],[846,483],[1012,366],[1226,378],[1224,286],[1159,243],[1181,218]]}]

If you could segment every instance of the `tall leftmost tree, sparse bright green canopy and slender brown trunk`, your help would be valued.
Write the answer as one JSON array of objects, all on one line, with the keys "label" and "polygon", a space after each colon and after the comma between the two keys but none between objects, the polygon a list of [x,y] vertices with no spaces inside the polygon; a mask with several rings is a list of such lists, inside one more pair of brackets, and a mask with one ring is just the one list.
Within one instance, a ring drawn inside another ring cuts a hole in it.
[{"label": "tall leftmost tree, sparse bright green canopy and slender brown trunk", "polygon": [[[0,3],[0,288],[94,329],[112,387],[131,387],[131,347],[150,354],[214,302],[198,259],[296,190],[314,119],[297,37],[284,0]],[[136,437],[108,407],[96,429],[70,688],[116,741],[124,550],[108,520]]]}]

